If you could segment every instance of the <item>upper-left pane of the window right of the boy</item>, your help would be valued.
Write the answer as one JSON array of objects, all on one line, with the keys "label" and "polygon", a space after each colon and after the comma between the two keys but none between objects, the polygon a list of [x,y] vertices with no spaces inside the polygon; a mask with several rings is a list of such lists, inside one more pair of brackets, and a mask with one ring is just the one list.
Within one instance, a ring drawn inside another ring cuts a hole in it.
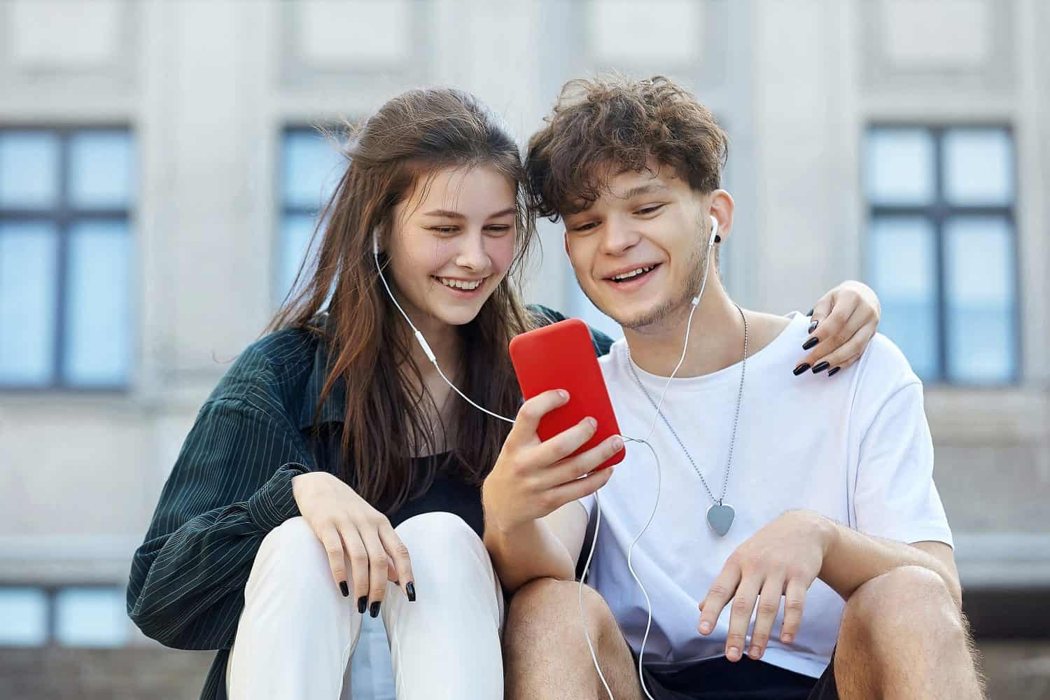
[{"label": "upper-left pane of the window right of the boy", "polygon": [[873,204],[930,204],[936,189],[932,134],[920,128],[872,129],[865,170]]}]

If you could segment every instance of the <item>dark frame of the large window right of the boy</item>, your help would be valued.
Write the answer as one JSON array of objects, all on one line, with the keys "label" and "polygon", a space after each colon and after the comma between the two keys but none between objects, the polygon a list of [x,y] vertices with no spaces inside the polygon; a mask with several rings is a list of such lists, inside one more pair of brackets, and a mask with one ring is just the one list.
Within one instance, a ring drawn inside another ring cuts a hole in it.
[{"label": "dark frame of the large window right of the boy", "polygon": [[[867,140],[870,135],[880,130],[917,129],[930,135],[933,143],[933,195],[932,199],[924,205],[887,205],[873,201],[868,196],[866,155]],[[1013,196],[1009,204],[1005,205],[953,205],[945,195],[945,170],[944,170],[944,137],[951,131],[965,130],[998,130],[1004,132],[1010,142],[1010,176],[1012,177]],[[1023,375],[1024,351],[1022,342],[1022,314],[1021,314],[1021,235],[1017,231],[1016,207],[1018,199],[1018,178],[1017,178],[1017,142],[1013,125],[1009,122],[958,122],[931,124],[925,122],[897,122],[897,121],[875,121],[867,124],[864,130],[863,157],[861,157],[861,193],[866,210],[866,231],[869,235],[876,219],[881,217],[920,217],[928,221],[933,231],[934,264],[933,273],[936,279],[936,307],[938,314],[937,327],[937,362],[938,374],[936,377],[924,378],[928,383],[936,383],[948,386],[973,387],[973,388],[998,388],[1012,386],[1021,382]],[[975,382],[952,378],[948,374],[948,360],[951,357],[951,348],[948,342],[948,324],[950,320],[947,313],[946,296],[946,268],[945,268],[945,224],[957,216],[996,216],[1003,218],[1010,227],[1013,245],[1013,357],[1011,358],[1012,372],[1009,377],[1002,381]],[[863,254],[863,269],[869,270],[867,250],[865,247]],[[878,290],[877,290],[878,291]]]}]

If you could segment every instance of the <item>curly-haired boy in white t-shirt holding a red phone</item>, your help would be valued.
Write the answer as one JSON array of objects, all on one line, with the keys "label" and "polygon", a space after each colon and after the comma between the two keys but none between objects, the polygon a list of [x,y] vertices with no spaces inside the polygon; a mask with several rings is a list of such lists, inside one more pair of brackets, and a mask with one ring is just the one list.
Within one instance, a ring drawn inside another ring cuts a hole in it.
[{"label": "curly-haired boy in white t-shirt holding a red phone", "polygon": [[569,83],[529,143],[537,204],[563,219],[581,288],[623,326],[601,359],[621,430],[654,426],[658,460],[630,443],[613,470],[583,476],[623,441],[569,458],[593,424],[541,442],[538,421],[565,396],[522,406],[483,488],[485,542],[517,591],[507,697],[606,697],[573,582],[595,499],[570,500],[602,486],[583,615],[614,697],[644,697],[648,610],[627,552],[658,485],[632,559],[652,601],[652,697],[979,698],[922,384],[882,336],[835,381],[841,356],[784,372],[828,338],[726,293],[726,146],[682,88],[621,78]]}]

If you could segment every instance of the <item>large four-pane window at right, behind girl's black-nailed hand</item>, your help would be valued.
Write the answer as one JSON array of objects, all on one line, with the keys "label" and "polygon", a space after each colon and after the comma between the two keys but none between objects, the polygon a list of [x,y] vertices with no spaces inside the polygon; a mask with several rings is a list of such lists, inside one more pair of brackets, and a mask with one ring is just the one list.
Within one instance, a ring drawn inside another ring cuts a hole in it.
[{"label": "large four-pane window at right, behind girl's black-nailed hand", "polygon": [[868,130],[866,276],[925,381],[1017,380],[1013,139],[1002,126]]}]

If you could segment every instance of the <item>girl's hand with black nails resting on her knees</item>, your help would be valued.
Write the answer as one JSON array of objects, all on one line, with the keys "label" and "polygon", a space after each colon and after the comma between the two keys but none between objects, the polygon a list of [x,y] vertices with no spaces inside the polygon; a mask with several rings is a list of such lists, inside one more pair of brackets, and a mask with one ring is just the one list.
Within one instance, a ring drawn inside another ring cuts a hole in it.
[{"label": "girl's hand with black nails resting on her knees", "polygon": [[399,584],[408,600],[416,599],[408,548],[385,515],[324,471],[293,476],[292,495],[324,546],[332,577],[343,596],[350,595],[348,580],[352,581],[357,612],[379,615],[387,580]]}]

